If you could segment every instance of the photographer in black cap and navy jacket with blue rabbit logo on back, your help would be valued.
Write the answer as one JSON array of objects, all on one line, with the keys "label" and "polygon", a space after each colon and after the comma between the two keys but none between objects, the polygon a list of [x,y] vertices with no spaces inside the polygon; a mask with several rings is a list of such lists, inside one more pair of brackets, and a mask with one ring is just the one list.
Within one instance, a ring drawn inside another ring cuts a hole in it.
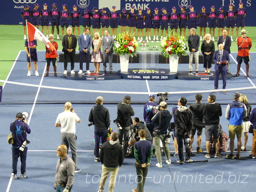
[{"label": "photographer in black cap and navy jacket with blue rabbit logo on back", "polygon": [[21,145],[27,140],[27,133],[31,132],[27,121],[23,118],[22,113],[17,113],[15,121],[10,124],[10,131],[12,132],[13,144],[12,144],[12,179],[17,179],[17,163],[20,157],[20,179],[24,179],[26,176],[26,157],[28,147],[25,146],[23,151],[20,150]]}]

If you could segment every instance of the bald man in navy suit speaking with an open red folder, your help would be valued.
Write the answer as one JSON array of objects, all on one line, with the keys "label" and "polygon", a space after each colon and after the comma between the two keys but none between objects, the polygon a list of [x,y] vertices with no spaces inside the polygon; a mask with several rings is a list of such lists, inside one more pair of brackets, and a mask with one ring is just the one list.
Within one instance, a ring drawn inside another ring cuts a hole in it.
[{"label": "bald man in navy suit speaking with an open red folder", "polygon": [[[229,53],[225,51],[223,47],[224,47],[223,44],[218,45],[219,50],[214,52],[213,59],[212,59],[215,63],[214,89],[218,89],[220,74],[223,81],[222,89],[226,88],[226,82],[227,82],[226,71],[227,71],[227,64],[229,62]],[[221,61],[225,61],[225,62],[221,63]],[[223,92],[226,92],[226,91],[223,91]]]}]

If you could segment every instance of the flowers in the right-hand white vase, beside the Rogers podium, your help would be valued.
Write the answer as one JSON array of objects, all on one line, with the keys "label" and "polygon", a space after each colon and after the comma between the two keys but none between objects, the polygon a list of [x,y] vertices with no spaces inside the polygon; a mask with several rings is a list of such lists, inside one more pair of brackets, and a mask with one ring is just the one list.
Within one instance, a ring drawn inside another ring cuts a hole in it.
[{"label": "flowers in the right-hand white vase, beside the Rogers podium", "polygon": [[178,57],[181,55],[187,55],[186,51],[188,47],[185,44],[186,37],[179,36],[177,33],[173,35],[168,34],[167,37],[164,37],[161,43],[161,55],[165,58],[177,54]]}]

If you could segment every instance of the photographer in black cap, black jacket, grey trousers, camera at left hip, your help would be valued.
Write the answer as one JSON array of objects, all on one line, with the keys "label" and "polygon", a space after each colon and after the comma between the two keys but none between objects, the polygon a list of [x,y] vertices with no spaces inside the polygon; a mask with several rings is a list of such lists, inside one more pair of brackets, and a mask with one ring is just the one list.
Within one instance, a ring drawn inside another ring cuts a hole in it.
[{"label": "photographer in black cap, black jacket, grey trousers, camera at left hip", "polygon": [[[122,103],[117,105],[117,118],[115,120],[116,123],[119,123],[122,129],[118,130],[118,141],[120,145],[124,145],[124,156],[129,156],[127,154],[128,140],[129,140],[129,132],[132,123],[132,117],[134,116],[134,111],[130,106],[131,97],[126,95],[123,99]],[[124,142],[123,142],[124,137]]]}]

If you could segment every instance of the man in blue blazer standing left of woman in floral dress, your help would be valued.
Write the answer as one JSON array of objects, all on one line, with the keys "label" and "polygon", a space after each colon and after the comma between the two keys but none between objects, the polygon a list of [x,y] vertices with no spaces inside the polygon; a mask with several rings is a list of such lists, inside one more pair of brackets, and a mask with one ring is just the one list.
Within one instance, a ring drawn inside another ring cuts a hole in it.
[{"label": "man in blue blazer standing left of woman in floral dress", "polygon": [[80,55],[80,70],[78,74],[83,73],[83,60],[85,57],[86,62],[86,72],[87,74],[90,74],[90,51],[92,46],[92,38],[90,35],[88,35],[89,29],[84,28],[84,33],[78,36],[78,45],[79,45],[79,55]]}]

